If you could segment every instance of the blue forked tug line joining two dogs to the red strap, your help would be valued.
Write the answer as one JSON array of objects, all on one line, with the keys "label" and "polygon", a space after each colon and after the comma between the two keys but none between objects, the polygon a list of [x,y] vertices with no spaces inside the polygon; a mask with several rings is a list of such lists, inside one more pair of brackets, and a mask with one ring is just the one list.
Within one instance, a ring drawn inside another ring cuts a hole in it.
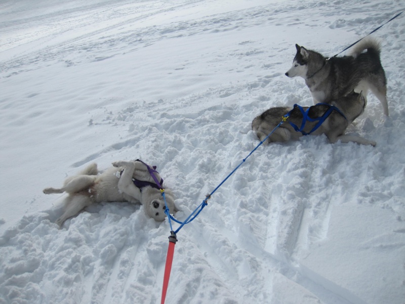
[{"label": "blue forked tug line joining two dogs to the red strap", "polygon": [[287,118],[288,118],[288,116],[285,116],[285,117],[282,118],[282,121],[273,129],[273,131],[271,131],[271,132],[269,133],[269,135],[267,135],[262,141],[260,141],[260,143],[251,151],[251,153],[249,153],[249,155],[248,155],[245,159],[243,159],[242,162],[241,162],[235,169],[233,169],[232,172],[229,173],[227,177],[225,177],[225,179],[214,189],[213,192],[211,192],[209,195],[206,196],[206,198],[204,199],[204,201],[203,201],[193,212],[191,212],[191,214],[186,218],[185,221],[181,222],[181,221],[175,219],[175,218],[170,214],[170,212],[169,212],[169,207],[168,207],[168,205],[167,205],[167,203],[166,203],[165,190],[164,190],[164,189],[160,189],[160,191],[162,192],[163,198],[164,198],[164,200],[165,200],[165,205],[166,205],[165,213],[166,213],[166,215],[168,216],[168,219],[169,219],[170,231],[173,232],[172,220],[174,220],[175,222],[177,222],[177,223],[180,224],[180,226],[178,227],[178,229],[173,232],[173,233],[176,235],[176,234],[180,231],[180,229],[182,229],[182,227],[183,227],[185,224],[190,223],[194,218],[196,218],[197,215],[198,215],[201,211],[203,211],[204,207],[208,205],[207,201],[208,201],[208,200],[211,198],[211,196],[218,190],[218,188],[219,188],[220,186],[222,186],[222,184],[223,184],[233,173],[235,173],[235,171],[236,171],[237,169],[239,169],[239,167],[248,159],[248,157],[250,157],[250,156],[254,153],[254,151],[256,151],[257,148],[258,148],[259,146],[261,146],[261,145],[263,144],[263,142],[265,142],[266,139],[269,138],[269,136],[270,136],[271,134],[273,134],[273,132],[274,132],[279,126],[281,126],[282,123],[284,123],[284,122],[287,120]]}]

